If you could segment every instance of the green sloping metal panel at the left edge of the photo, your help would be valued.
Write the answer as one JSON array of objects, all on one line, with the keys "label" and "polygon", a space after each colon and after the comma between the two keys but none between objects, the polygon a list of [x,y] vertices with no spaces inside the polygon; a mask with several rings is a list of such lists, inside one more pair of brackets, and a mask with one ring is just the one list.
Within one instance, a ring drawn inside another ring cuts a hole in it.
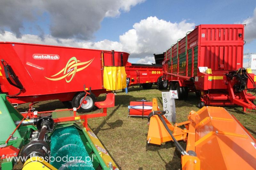
[{"label": "green sloping metal panel at the left edge of the photo", "polygon": [[[21,120],[23,116],[12,106],[6,99],[6,94],[0,94],[0,143],[5,143],[5,140],[10,136],[16,128],[14,121]],[[13,134],[13,137],[21,138],[18,130]]]}]

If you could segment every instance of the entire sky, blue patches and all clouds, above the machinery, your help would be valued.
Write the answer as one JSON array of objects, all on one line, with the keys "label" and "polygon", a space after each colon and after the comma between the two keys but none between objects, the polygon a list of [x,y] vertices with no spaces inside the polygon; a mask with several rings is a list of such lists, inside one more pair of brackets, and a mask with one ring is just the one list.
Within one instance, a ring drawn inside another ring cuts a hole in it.
[{"label": "entire sky, blue patches and all clouds, above the machinery", "polygon": [[132,63],[154,63],[196,25],[234,23],[255,53],[256,0],[0,1],[0,41],[114,49]]}]

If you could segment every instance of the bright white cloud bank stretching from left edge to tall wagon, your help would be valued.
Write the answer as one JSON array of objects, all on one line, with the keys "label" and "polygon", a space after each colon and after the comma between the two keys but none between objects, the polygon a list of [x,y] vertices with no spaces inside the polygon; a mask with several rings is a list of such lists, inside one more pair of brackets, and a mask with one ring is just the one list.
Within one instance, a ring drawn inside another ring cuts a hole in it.
[{"label": "bright white cloud bank stretching from left edge to tall wagon", "polygon": [[171,23],[156,17],[148,17],[133,25],[119,36],[119,41],[103,40],[98,42],[77,41],[75,38],[55,38],[52,35],[45,35],[44,39],[37,35],[22,35],[17,38],[14,33],[5,32],[0,34],[0,41],[26,42],[36,44],[59,45],[80,48],[94,48],[102,50],[124,51],[130,53],[132,58],[142,58],[139,63],[155,63],[153,54],[160,54],[167,48],[183,38],[188,31],[193,30],[194,23],[186,20],[180,23]]}]

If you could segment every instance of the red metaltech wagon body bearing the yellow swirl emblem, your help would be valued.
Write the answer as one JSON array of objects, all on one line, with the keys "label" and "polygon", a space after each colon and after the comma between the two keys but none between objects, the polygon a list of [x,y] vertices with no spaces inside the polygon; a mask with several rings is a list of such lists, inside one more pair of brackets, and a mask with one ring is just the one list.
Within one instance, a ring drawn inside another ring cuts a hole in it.
[{"label": "red metaltech wagon body bearing the yellow swirl emblem", "polygon": [[11,103],[71,101],[83,92],[84,85],[97,97],[106,93],[103,66],[123,66],[128,56],[116,51],[0,42],[1,92],[12,96],[20,91],[7,81],[5,63],[24,87],[20,94],[8,98]]}]

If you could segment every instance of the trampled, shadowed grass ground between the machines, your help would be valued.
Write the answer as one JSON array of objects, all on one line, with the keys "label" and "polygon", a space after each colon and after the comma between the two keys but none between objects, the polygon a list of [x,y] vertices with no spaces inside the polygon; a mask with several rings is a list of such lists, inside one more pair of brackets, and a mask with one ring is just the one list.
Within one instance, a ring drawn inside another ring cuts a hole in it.
[{"label": "trampled, shadowed grass ground between the machines", "polygon": [[[146,118],[129,117],[128,105],[130,101],[152,100],[156,98],[162,109],[161,91],[155,86],[151,90],[130,88],[128,94],[117,92],[115,107],[108,109],[107,117],[89,119],[88,123],[93,132],[107,148],[108,153],[116,161],[120,169],[180,169],[180,153],[172,142],[161,146],[147,144],[148,120]],[[97,98],[103,101],[104,95]],[[198,111],[196,107],[198,98],[189,94],[187,101],[176,100],[176,121],[183,122],[191,110]],[[37,111],[63,108],[59,100],[43,101],[35,105]],[[256,111],[244,114],[242,107],[225,107],[230,114],[244,125],[256,137]],[[28,104],[19,105],[19,111],[28,109]],[[95,110],[95,113],[100,110]],[[186,143],[180,142],[183,148]],[[19,168],[20,166],[16,166]]]}]

